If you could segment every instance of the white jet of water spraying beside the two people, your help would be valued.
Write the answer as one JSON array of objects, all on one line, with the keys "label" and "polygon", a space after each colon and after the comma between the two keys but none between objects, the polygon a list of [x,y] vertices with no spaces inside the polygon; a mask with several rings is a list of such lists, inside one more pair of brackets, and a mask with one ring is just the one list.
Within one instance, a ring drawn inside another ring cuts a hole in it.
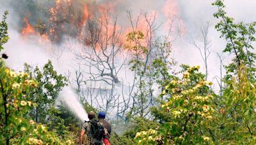
[{"label": "white jet of water spraying beside the two people", "polygon": [[58,99],[65,103],[70,111],[72,111],[72,113],[74,113],[81,121],[89,121],[88,114],[84,110],[82,104],[79,102],[77,94],[72,91],[70,86],[66,86],[63,88],[63,90],[61,90]]}]

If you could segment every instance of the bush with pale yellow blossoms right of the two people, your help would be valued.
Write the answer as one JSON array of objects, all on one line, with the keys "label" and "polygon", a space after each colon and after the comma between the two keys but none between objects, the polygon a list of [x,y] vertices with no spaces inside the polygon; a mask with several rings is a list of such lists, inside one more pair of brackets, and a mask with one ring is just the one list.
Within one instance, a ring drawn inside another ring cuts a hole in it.
[{"label": "bush with pale yellow blossoms right of the two people", "polygon": [[170,81],[161,95],[170,99],[161,105],[171,120],[157,130],[138,132],[137,144],[208,144],[212,142],[214,94],[211,82],[198,73],[199,66],[189,67],[182,79]]}]

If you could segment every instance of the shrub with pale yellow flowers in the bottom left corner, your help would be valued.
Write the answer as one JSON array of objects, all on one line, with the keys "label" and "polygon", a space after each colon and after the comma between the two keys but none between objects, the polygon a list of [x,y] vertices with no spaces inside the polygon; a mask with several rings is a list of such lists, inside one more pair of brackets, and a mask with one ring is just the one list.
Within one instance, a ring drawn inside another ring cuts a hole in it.
[{"label": "shrub with pale yellow flowers in the bottom left corner", "polygon": [[[60,144],[53,132],[42,124],[28,120],[28,113],[36,103],[28,94],[38,84],[28,79],[28,73],[15,72],[0,60],[0,142],[6,144]],[[71,141],[65,142],[72,144]]]}]

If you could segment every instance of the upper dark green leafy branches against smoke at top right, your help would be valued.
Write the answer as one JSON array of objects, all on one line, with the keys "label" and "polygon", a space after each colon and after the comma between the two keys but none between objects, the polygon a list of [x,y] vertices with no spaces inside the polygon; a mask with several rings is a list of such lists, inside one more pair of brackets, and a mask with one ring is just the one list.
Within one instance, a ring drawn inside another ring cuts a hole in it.
[{"label": "upper dark green leafy branches against smoke at top right", "polygon": [[218,7],[218,11],[214,13],[214,17],[221,18],[221,21],[216,24],[215,28],[221,32],[221,38],[227,40],[227,45],[223,52],[234,54],[236,57],[233,59],[234,62],[226,66],[227,76],[229,79],[232,74],[236,74],[239,66],[244,64],[248,67],[248,76],[250,79],[255,80],[255,59],[256,55],[253,53],[253,43],[255,39],[255,25],[256,22],[250,24],[244,24],[240,22],[234,23],[234,18],[227,17],[224,11],[225,5],[222,0],[217,0],[212,5]]}]

